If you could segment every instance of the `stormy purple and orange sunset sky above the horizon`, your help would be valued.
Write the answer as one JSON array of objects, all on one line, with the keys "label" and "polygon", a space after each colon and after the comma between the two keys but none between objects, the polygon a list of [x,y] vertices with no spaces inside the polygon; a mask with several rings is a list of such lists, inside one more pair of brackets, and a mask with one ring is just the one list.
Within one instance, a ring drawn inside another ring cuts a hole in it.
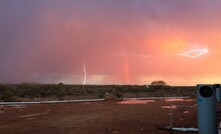
[{"label": "stormy purple and orange sunset sky above the horizon", "polygon": [[0,83],[220,83],[220,7],[221,0],[1,0]]}]

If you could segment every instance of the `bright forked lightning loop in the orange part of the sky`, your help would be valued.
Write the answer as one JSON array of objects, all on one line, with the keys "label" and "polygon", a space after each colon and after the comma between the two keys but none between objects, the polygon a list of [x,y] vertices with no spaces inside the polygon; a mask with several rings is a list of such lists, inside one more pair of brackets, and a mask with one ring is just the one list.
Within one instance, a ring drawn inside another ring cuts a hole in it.
[{"label": "bright forked lightning loop in the orange part of the sky", "polygon": [[200,50],[190,50],[184,54],[177,54],[180,56],[186,56],[186,57],[190,57],[190,58],[197,58],[203,54],[208,53],[208,48],[204,48],[204,49],[200,49]]}]

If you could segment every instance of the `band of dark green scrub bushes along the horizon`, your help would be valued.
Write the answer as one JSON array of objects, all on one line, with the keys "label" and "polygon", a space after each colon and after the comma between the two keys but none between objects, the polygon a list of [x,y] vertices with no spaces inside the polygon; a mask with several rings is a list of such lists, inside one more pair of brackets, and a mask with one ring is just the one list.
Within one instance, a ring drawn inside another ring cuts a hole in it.
[{"label": "band of dark green scrub bushes along the horizon", "polygon": [[0,101],[62,100],[88,98],[122,98],[149,96],[190,96],[195,87],[146,85],[64,85],[59,84],[2,84]]}]

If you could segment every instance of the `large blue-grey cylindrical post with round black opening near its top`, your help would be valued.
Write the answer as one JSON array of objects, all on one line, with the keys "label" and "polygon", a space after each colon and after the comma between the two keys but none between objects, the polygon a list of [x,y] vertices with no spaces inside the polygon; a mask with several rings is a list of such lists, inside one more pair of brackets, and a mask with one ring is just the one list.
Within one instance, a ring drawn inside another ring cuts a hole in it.
[{"label": "large blue-grey cylindrical post with round black opening near its top", "polygon": [[214,85],[197,85],[199,134],[217,134],[216,89]]}]

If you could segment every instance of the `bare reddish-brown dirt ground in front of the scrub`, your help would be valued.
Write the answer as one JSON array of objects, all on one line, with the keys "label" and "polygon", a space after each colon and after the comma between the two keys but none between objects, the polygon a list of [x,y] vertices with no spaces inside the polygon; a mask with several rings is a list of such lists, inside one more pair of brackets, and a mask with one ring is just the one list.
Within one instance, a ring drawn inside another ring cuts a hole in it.
[{"label": "bare reddish-brown dirt ground in front of the scrub", "polygon": [[[1,134],[171,134],[159,129],[170,122],[170,102],[38,104],[0,106]],[[191,105],[195,100],[174,101]],[[163,108],[162,108],[163,107]],[[195,108],[173,109],[174,127],[197,127]],[[173,132],[180,134],[183,132]],[[185,132],[185,134],[191,134]]]}]

